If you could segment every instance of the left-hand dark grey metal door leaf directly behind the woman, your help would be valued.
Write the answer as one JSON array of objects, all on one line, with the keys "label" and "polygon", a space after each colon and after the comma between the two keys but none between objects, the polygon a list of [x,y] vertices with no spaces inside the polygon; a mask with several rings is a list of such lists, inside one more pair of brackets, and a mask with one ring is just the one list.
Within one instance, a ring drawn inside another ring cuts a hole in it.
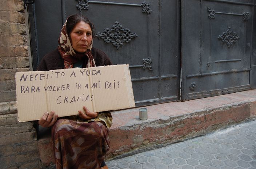
[{"label": "left-hand dark grey metal door leaf directly behind the woman", "polygon": [[93,46],[113,64],[129,64],[137,106],[179,100],[179,6],[177,0],[35,1],[29,7],[33,68],[57,47],[67,16],[81,13],[95,24]]}]

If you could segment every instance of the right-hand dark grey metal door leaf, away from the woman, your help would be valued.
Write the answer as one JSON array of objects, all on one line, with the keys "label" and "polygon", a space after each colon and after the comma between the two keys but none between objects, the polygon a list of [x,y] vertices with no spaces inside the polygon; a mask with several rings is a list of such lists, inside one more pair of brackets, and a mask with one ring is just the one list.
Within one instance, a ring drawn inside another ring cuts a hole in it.
[{"label": "right-hand dark grey metal door leaf, away from the woman", "polygon": [[255,0],[181,1],[182,100],[255,87],[254,4]]}]

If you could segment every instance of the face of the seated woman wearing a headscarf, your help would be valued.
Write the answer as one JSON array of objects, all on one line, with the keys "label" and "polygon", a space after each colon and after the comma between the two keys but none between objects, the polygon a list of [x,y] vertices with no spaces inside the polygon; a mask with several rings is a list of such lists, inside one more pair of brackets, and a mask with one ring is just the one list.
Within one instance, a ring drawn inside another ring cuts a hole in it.
[{"label": "face of the seated woman wearing a headscarf", "polygon": [[71,45],[76,52],[87,51],[92,42],[92,29],[84,21],[78,22],[70,32]]}]

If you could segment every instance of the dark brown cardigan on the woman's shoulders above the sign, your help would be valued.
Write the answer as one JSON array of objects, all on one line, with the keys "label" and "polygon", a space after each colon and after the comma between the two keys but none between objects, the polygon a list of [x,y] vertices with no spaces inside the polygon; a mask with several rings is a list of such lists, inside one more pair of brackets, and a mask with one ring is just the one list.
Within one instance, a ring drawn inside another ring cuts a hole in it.
[{"label": "dark brown cardigan on the woman's shoulders above the sign", "polygon": [[[96,66],[112,65],[111,60],[103,51],[93,47],[91,52]],[[87,62],[87,60],[84,62]],[[59,51],[55,49],[43,57],[37,67],[37,71],[49,71],[64,68],[64,60],[61,58]]]}]

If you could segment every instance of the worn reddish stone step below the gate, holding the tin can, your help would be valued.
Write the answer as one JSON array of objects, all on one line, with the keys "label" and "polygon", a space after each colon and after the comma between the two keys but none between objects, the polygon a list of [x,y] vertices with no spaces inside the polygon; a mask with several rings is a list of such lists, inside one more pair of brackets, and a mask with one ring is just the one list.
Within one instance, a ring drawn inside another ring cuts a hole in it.
[{"label": "worn reddish stone step below the gate, holding the tin can", "polygon": [[[109,128],[111,149],[107,160],[163,147],[256,118],[256,90],[144,106],[148,119],[139,119],[139,108],[113,111]],[[51,136],[38,140],[41,161],[54,163]]]}]

